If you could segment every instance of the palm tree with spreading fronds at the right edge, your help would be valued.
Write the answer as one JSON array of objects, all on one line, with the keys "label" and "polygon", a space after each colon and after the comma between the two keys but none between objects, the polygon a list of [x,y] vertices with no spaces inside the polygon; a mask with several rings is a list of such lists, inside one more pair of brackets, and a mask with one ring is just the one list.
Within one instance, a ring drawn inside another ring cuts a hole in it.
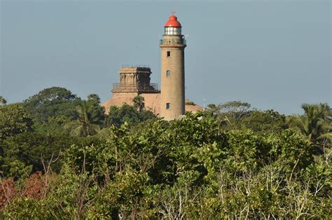
[{"label": "palm tree with spreading fronds at the right edge", "polygon": [[328,104],[303,104],[303,115],[289,116],[287,123],[298,129],[310,142],[332,137],[332,110]]}]

